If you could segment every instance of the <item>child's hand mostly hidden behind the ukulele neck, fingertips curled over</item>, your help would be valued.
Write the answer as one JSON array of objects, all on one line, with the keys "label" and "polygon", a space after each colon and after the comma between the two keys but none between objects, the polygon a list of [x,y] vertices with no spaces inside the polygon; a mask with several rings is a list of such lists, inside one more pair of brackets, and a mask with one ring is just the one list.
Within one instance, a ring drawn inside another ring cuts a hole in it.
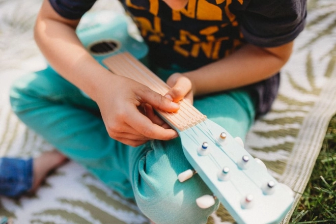
[{"label": "child's hand mostly hidden behind the ukulele neck, fingertips curled over", "polygon": [[191,104],[193,103],[192,82],[188,77],[181,73],[174,73],[167,79],[167,85],[172,89],[164,95],[165,97],[173,102],[185,98]]}]

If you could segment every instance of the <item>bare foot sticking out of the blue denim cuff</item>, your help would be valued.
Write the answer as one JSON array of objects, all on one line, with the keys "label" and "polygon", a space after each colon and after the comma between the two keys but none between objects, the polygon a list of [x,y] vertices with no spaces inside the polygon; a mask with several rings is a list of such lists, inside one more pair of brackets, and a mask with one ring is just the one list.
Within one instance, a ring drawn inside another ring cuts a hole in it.
[{"label": "bare foot sticking out of the blue denim cuff", "polygon": [[63,154],[57,150],[42,153],[33,160],[33,187],[30,193],[34,193],[41,185],[47,174],[59,167],[67,160]]}]

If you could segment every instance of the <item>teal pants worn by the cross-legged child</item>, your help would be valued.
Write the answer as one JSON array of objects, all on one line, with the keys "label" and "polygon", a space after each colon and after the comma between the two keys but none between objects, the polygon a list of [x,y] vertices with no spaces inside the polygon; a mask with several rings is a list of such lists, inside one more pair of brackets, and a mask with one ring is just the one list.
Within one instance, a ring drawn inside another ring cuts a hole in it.
[{"label": "teal pants worn by the cross-legged child", "polygon": [[[196,205],[195,199],[211,194],[198,175],[178,181],[178,174],[191,168],[179,137],[136,148],[115,141],[106,132],[97,104],[52,69],[21,77],[13,83],[10,97],[13,111],[28,127],[107,186],[134,199],[154,222],[206,223],[218,208],[218,201],[208,209]],[[255,118],[254,102],[242,90],[195,98],[194,106],[242,139]]]}]

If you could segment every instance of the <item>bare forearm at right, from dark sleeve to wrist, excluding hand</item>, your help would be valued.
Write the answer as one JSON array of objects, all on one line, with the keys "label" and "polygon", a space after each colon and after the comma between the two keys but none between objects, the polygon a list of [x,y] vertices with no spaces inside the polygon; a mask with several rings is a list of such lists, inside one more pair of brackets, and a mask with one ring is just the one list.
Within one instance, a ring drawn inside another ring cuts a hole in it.
[{"label": "bare forearm at right, from dark sleeve to wrist, excluding hand", "polygon": [[287,62],[293,43],[261,48],[247,44],[229,57],[183,75],[192,82],[194,95],[230,90],[266,79]]}]

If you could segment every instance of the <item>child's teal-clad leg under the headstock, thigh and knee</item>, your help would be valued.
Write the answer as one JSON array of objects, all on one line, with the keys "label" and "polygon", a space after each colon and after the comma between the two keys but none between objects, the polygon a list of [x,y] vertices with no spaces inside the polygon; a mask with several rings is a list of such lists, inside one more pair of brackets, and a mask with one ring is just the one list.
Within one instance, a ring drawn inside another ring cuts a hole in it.
[{"label": "child's teal-clad leg under the headstock, thigh and knee", "polygon": [[[232,92],[194,101],[208,119],[242,139],[254,121],[255,110],[245,92]],[[180,139],[153,141],[148,151],[130,151],[131,181],[139,208],[155,223],[206,223],[217,209],[201,209],[195,199],[211,194],[198,175],[180,183],[178,174],[191,169],[184,157]],[[132,162],[133,161],[133,162]]]}]

